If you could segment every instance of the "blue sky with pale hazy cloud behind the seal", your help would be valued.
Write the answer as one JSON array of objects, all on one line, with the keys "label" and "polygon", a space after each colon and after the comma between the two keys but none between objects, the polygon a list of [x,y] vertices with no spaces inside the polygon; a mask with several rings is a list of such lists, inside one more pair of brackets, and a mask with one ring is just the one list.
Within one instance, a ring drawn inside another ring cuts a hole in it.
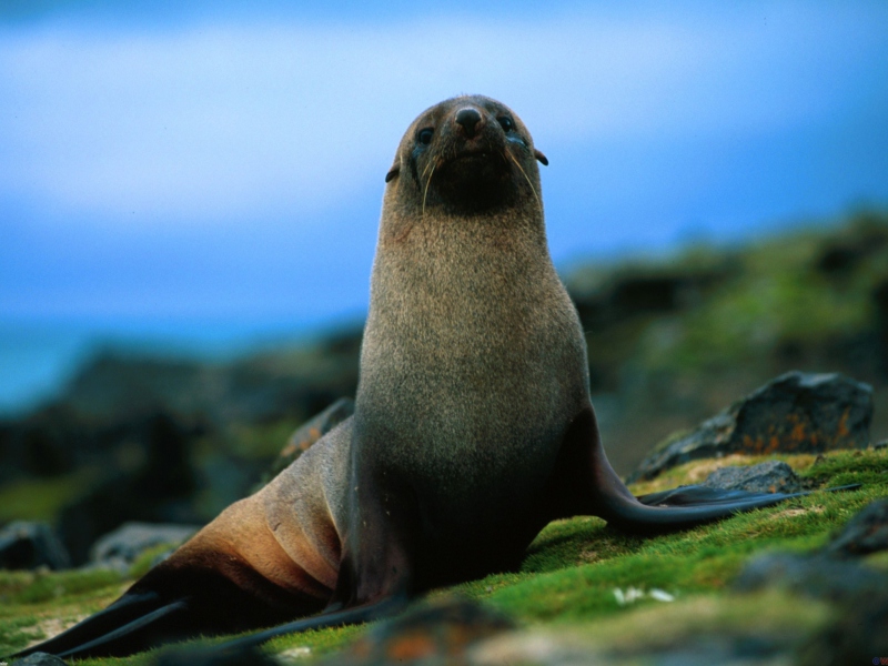
[{"label": "blue sky with pale hazy cloud behind the seal", "polygon": [[548,155],[562,266],[888,204],[884,1],[183,4],[0,8],[0,322],[360,314],[397,141],[461,92]]}]

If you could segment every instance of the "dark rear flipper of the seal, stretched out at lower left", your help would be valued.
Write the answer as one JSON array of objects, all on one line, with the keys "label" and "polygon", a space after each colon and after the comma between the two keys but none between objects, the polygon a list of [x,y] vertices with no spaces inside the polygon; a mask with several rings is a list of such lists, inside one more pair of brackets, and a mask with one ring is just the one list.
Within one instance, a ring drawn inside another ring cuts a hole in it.
[{"label": "dark rear flipper of the seal, stretched out at lower left", "polygon": [[157,645],[159,636],[168,636],[186,608],[185,599],[164,603],[153,592],[124,594],[104,610],[12,657],[26,657],[36,652],[63,658],[141,652]]}]

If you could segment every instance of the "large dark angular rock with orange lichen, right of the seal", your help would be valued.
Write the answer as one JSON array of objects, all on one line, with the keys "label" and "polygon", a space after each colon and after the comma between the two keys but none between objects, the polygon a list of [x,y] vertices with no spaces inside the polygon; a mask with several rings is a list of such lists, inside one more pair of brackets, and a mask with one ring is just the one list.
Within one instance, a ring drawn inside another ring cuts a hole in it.
[{"label": "large dark angular rock with orange lichen, right of the seal", "polygon": [[820,453],[865,448],[872,389],[839,374],[788,372],[657,446],[628,482],[650,480],[693,460],[729,453]]}]

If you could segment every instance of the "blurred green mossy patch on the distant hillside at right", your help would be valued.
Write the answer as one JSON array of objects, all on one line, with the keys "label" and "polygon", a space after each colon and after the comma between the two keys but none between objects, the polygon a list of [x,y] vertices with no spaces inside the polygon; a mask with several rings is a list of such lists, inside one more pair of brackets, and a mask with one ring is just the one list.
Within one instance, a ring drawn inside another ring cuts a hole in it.
[{"label": "blurred green mossy patch on the distant hillside at right", "polygon": [[871,293],[884,280],[888,251],[871,243],[866,248],[871,252],[840,275],[824,274],[817,262],[826,246],[857,246],[867,234],[886,233],[888,216],[870,213],[845,226],[795,231],[726,256],[737,270],[692,310],[655,321],[637,341],[636,363],[649,372],[760,365],[778,344],[816,345],[869,330]]}]

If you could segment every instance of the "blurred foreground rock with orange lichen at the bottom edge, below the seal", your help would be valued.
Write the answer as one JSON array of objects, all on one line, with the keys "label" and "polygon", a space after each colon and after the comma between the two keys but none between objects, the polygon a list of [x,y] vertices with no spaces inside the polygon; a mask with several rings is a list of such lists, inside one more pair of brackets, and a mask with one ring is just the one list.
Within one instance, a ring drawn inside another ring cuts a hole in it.
[{"label": "blurred foreground rock with orange lichen at the bottom edge, below the seal", "polygon": [[462,664],[473,644],[515,624],[504,615],[467,599],[450,599],[379,624],[352,647],[324,664]]}]

